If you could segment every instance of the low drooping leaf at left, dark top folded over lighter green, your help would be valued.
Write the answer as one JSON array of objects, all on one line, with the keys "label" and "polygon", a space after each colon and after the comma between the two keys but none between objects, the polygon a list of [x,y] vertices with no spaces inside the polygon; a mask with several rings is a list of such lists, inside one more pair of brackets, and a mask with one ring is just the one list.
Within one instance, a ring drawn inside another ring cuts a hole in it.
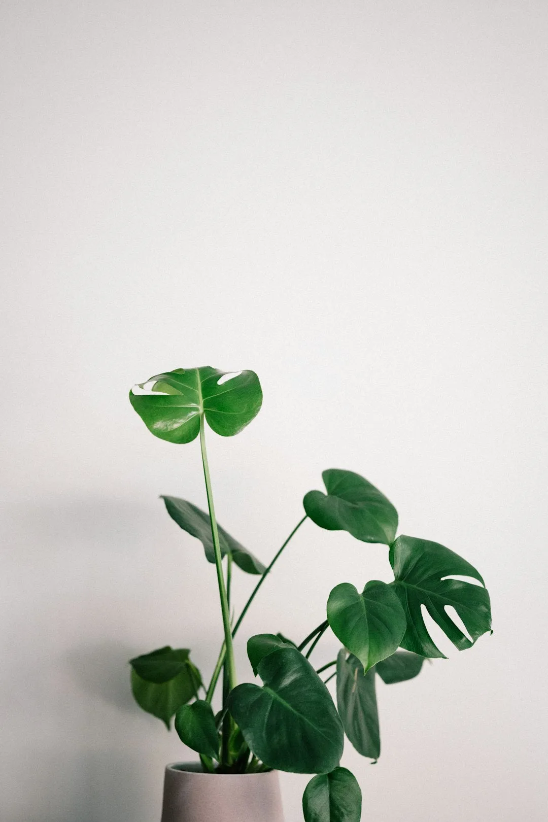
[{"label": "low drooping leaf at left, dark top folded over lighter green", "polygon": [[200,672],[189,651],[168,645],[131,659],[131,691],[136,703],[171,727],[173,714],[198,695]]}]

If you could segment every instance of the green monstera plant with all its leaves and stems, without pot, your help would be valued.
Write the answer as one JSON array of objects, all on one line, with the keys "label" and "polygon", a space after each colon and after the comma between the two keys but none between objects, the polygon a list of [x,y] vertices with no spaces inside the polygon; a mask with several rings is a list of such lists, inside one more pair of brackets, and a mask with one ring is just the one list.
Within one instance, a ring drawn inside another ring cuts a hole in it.
[{"label": "green monstera plant with all its leaves and stems, without pot", "polygon": [[[137,703],[168,728],[174,717],[179,737],[200,755],[204,771],[313,774],[302,801],[306,822],[358,822],[360,788],[340,765],[344,738],[376,760],[376,677],[388,684],[402,682],[417,676],[425,658],[444,656],[426,627],[422,606],[459,650],[470,648],[490,630],[490,600],[481,575],[439,543],[397,536],[398,514],[392,503],[359,474],[340,469],[323,473],[325,491],[306,493],[302,520],[269,565],[263,565],[217,522],[205,448],[206,423],[220,436],[234,436],[259,413],[262,391],[256,374],[177,368],[135,386],[130,399],[154,436],[176,445],[200,440],[208,510],[175,496],[163,496],[163,501],[177,525],[200,540],[205,559],[214,565],[224,633],[207,686],[186,648],[166,646],[131,659]],[[348,531],[363,543],[386,545],[394,580],[371,580],[361,588],[360,570],[355,580],[360,588],[341,581],[329,593],[325,619],[300,643],[279,633],[251,636],[247,654],[261,684],[238,685],[234,639],[269,571],[306,520],[323,529]],[[258,580],[231,621],[234,565]],[[463,581],[463,576],[477,584]],[[451,618],[449,607],[467,635]],[[312,654],[327,630],[342,648],[337,659],[315,668]],[[327,687],[333,677],[335,700]],[[215,711],[219,679],[222,693]]]}]

